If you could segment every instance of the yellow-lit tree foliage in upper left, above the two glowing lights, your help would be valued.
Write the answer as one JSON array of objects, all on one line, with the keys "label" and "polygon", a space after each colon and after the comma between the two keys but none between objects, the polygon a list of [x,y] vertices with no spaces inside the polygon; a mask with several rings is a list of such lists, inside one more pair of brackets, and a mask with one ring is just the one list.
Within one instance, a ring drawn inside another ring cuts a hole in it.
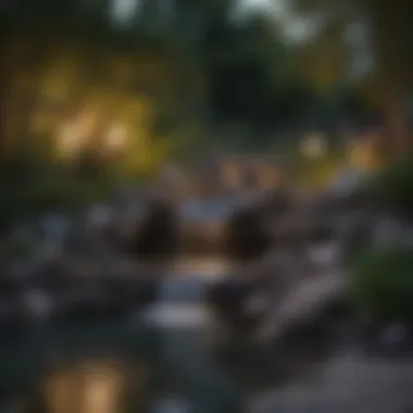
[{"label": "yellow-lit tree foliage in upper left, above the two glowing lights", "polygon": [[[28,147],[28,118],[43,107],[63,122],[67,116],[76,117],[76,110],[96,112],[88,108],[99,107],[100,125],[92,132],[99,135],[115,117],[127,117],[130,123],[130,116],[120,112],[130,112],[130,100],[143,101],[155,108],[151,124],[145,125],[147,139],[159,135],[154,128],[161,107],[168,103],[175,110],[187,99],[180,85],[185,78],[190,89],[192,82],[188,71],[174,66],[176,59],[166,37],[153,37],[139,22],[118,27],[111,21],[109,9],[108,0],[15,0],[1,14],[2,39],[7,40],[0,52],[7,65],[2,65],[0,77],[0,104],[8,113],[2,111],[0,124],[2,138],[9,138],[7,147]],[[160,133],[162,138],[180,127],[176,110],[174,115],[175,123]],[[158,147],[170,146],[162,140],[153,148]],[[166,149],[157,149],[157,157],[164,152]]]}]

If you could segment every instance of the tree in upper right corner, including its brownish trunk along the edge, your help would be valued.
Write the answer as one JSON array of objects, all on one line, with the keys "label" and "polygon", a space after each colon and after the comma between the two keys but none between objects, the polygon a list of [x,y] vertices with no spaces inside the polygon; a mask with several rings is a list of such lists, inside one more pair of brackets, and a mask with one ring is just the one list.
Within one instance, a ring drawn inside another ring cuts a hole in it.
[{"label": "tree in upper right corner, including its brownish trunk along the edge", "polygon": [[[413,17],[413,4],[408,0],[396,2],[383,2],[379,0],[363,0],[361,2],[327,1],[327,0],[293,0],[290,2],[298,15],[321,22],[317,36],[313,43],[316,52],[310,53],[313,62],[322,67],[328,60],[326,51],[320,46],[329,42],[330,49],[340,51],[341,62],[347,59],[342,53],[346,42],[346,30],[359,22],[368,28],[371,34],[372,52],[374,57],[374,70],[367,78],[368,92],[375,96],[376,105],[385,115],[388,126],[388,135],[395,153],[402,153],[409,145],[409,130],[404,114],[404,103],[409,95],[413,76],[413,49],[411,48]],[[334,23],[336,22],[336,23]],[[337,24],[337,22],[341,22]],[[333,36],[331,24],[336,26]],[[337,29],[339,28],[339,29]],[[322,49],[322,50],[320,50]],[[314,50],[313,50],[314,51]],[[321,53],[320,53],[321,52]],[[323,58],[321,58],[321,55]],[[342,63],[342,71],[346,63]],[[378,92],[377,92],[378,91]]]}]

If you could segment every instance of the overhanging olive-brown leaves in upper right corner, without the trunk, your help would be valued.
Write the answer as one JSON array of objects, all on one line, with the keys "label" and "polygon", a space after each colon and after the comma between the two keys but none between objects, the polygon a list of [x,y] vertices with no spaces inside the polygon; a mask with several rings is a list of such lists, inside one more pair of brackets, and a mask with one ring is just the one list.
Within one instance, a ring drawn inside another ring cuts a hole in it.
[{"label": "overhanging olive-brown leaves in upper right corner, without the trunk", "polygon": [[391,100],[404,99],[413,80],[410,17],[413,5],[410,1],[402,0],[396,5],[380,0],[290,0],[288,7],[301,18],[316,21],[318,17],[316,37],[306,48],[306,63],[302,65],[310,68],[308,75],[312,83],[323,84],[317,80],[334,79],[334,73],[350,67],[354,55],[343,34],[354,23],[361,23],[368,27],[370,52],[375,62],[373,73],[364,79],[371,84],[366,90],[368,100],[386,110]]}]

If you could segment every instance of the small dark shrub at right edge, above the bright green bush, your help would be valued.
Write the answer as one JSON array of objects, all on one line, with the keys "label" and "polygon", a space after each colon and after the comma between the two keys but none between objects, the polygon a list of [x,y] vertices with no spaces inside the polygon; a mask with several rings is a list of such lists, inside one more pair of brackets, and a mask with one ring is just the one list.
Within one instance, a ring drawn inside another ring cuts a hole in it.
[{"label": "small dark shrub at right edge, above the bright green bush", "polygon": [[372,199],[396,212],[413,214],[413,154],[383,167],[365,184]]}]

